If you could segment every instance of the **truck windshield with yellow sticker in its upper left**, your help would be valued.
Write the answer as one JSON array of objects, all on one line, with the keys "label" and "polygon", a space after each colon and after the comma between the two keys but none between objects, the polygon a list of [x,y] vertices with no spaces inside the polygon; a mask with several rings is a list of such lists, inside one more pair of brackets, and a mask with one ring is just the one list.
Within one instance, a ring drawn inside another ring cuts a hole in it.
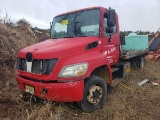
[{"label": "truck windshield with yellow sticker in its upper left", "polygon": [[100,10],[79,11],[55,17],[51,38],[99,36]]}]

